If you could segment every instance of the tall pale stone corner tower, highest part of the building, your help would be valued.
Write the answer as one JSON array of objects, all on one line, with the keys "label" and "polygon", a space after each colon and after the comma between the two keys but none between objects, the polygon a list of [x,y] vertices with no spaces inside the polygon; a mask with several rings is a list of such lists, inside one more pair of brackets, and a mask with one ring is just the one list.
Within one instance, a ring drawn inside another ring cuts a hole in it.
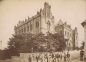
[{"label": "tall pale stone corner tower, highest part of the building", "polygon": [[41,31],[43,33],[54,32],[54,16],[52,16],[51,6],[47,2],[44,3],[41,11]]}]

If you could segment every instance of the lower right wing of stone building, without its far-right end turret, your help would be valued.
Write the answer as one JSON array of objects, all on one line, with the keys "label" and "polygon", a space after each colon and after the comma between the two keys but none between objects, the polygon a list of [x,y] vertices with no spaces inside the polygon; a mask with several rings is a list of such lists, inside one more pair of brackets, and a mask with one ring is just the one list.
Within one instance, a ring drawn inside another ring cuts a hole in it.
[{"label": "lower right wing of stone building, without its far-right end turret", "polygon": [[62,20],[59,20],[58,24],[55,26],[55,31],[61,33],[64,37],[64,42],[66,42],[66,49],[72,49],[72,29],[71,26],[66,22],[63,23]]}]

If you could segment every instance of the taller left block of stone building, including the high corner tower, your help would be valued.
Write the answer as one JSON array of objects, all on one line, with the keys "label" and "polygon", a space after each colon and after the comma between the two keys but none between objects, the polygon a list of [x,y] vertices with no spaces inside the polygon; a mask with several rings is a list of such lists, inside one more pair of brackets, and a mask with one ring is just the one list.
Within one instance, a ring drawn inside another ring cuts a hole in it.
[{"label": "taller left block of stone building, including the high corner tower", "polygon": [[31,18],[19,21],[15,26],[15,34],[32,33],[38,34],[40,32],[54,32],[54,16],[52,16],[51,6],[48,3],[44,3],[44,8],[40,9],[36,15]]}]

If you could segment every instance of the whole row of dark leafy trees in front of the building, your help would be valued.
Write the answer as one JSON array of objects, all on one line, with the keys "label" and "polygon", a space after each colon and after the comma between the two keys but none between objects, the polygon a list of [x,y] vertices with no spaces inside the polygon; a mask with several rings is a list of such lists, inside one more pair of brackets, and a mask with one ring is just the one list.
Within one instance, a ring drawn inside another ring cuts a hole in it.
[{"label": "whole row of dark leafy trees in front of the building", "polygon": [[9,38],[8,52],[10,56],[20,53],[51,52],[65,49],[65,42],[62,35],[55,33],[22,34],[13,35]]}]

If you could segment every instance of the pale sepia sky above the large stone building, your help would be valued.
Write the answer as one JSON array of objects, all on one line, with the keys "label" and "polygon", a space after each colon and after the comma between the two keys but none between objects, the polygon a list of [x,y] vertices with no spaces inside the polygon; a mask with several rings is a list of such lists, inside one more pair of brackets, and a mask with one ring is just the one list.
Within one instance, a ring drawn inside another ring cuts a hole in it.
[{"label": "pale sepia sky above the large stone building", "polygon": [[86,20],[86,0],[0,0],[0,40],[2,48],[7,46],[14,34],[14,26],[20,21],[32,17],[43,8],[44,2],[51,5],[52,14],[57,23],[60,19],[78,28],[79,42],[84,40],[81,23]]}]

